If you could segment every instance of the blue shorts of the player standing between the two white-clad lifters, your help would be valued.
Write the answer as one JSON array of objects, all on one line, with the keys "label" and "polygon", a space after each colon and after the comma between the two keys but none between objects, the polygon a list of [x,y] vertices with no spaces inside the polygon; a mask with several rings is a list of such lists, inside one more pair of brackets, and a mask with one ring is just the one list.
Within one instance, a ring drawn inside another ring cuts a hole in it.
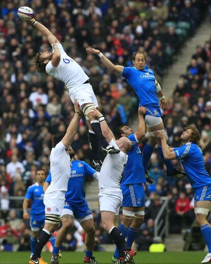
[{"label": "blue shorts of the player standing between the two white-clad lifters", "polygon": [[73,212],[73,215],[76,219],[84,218],[89,214],[92,214],[87,201],[83,201],[82,203],[73,203],[65,200],[64,209],[68,209]]}]

